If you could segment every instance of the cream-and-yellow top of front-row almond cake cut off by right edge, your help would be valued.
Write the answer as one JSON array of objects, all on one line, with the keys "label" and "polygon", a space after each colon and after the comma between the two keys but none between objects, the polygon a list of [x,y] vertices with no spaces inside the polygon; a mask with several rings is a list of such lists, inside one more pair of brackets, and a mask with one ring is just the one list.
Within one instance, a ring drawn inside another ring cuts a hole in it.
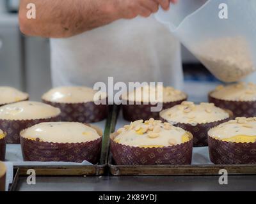
[{"label": "cream-and-yellow top of front-row almond cake cut off by right edge", "polygon": [[226,142],[256,142],[256,117],[237,117],[210,129],[208,135]]}]

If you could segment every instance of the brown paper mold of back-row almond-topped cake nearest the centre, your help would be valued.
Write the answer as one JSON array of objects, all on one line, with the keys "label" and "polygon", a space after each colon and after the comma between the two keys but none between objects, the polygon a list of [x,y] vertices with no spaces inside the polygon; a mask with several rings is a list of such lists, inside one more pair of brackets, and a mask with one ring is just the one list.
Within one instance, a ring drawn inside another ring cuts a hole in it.
[{"label": "brown paper mold of back-row almond-topped cake nearest the centre", "polygon": [[[167,108],[172,108],[175,105],[179,105],[182,103],[182,101],[186,101],[187,98],[184,98],[179,101],[172,101],[163,103],[163,110]],[[136,121],[136,120],[148,120],[150,118],[153,119],[159,119],[159,112],[151,112],[151,107],[157,106],[157,105],[136,105],[134,102],[134,105],[129,105],[129,101],[126,101],[127,105],[122,105],[123,110],[123,117],[125,120],[128,121]],[[141,102],[142,103],[142,102]]]}]

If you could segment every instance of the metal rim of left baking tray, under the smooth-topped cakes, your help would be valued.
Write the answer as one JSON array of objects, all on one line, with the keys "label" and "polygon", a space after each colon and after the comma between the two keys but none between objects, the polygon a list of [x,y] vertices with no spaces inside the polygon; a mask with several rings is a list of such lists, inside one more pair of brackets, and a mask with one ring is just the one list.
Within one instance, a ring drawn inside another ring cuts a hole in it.
[{"label": "metal rim of left baking tray, under the smooth-topped cakes", "polygon": [[[111,133],[111,117],[113,115],[113,106],[109,106],[108,119],[104,127],[102,136],[102,150],[100,153],[100,161],[95,165],[68,165],[68,166],[52,166],[47,163],[40,166],[15,166],[19,168],[19,175],[26,176],[29,169],[34,169],[38,176],[99,176],[103,175],[108,167],[108,150],[109,150],[109,135]],[[6,152],[7,153],[7,152]]]}]

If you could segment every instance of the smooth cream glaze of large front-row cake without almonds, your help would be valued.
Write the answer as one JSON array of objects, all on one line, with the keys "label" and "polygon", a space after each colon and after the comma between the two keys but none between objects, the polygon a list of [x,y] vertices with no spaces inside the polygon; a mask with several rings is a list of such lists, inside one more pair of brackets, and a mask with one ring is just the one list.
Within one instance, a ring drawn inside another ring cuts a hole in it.
[{"label": "smooth cream glaze of large front-row cake without almonds", "polygon": [[42,142],[81,143],[100,138],[97,131],[79,122],[43,122],[20,133],[23,138]]}]

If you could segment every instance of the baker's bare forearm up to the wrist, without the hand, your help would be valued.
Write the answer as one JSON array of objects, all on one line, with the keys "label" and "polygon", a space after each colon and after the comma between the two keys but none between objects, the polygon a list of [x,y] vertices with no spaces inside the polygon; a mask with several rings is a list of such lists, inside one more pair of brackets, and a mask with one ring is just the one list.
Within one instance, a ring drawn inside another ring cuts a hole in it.
[{"label": "baker's bare forearm up to the wrist, without the hand", "polygon": [[[21,0],[20,29],[31,36],[65,38],[118,19],[115,4],[106,0]],[[28,3],[36,5],[36,19],[26,17]]]}]

